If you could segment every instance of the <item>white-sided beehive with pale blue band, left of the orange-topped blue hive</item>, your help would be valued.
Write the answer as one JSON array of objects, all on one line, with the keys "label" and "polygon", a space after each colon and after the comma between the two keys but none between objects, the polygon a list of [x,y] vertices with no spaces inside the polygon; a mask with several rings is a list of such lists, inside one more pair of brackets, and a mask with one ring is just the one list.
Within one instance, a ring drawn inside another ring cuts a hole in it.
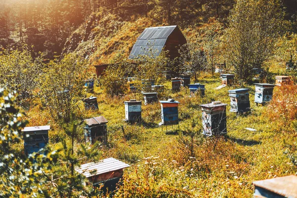
[{"label": "white-sided beehive with pale blue band, left of the orange-topped blue hive", "polygon": [[141,101],[136,99],[130,99],[125,101],[125,121],[128,122],[139,122],[141,121]]}]

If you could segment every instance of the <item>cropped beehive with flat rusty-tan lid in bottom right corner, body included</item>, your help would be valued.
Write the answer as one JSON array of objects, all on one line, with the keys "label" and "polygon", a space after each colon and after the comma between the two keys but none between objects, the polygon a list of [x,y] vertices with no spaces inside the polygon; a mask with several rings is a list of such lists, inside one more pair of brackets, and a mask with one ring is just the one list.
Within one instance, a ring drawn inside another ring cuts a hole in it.
[{"label": "cropped beehive with flat rusty-tan lid in bottom right corner, body included", "polygon": [[253,182],[254,198],[297,198],[297,176],[290,175]]}]

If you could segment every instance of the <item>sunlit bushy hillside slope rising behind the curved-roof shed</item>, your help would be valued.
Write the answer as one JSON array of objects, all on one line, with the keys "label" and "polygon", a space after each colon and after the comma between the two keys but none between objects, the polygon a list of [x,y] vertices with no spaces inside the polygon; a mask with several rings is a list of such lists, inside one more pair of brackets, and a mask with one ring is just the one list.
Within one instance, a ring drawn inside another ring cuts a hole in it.
[{"label": "sunlit bushy hillside slope rising behind the curved-roof shed", "polygon": [[[155,20],[153,17],[101,10],[93,13],[90,19],[67,39],[63,54],[74,51],[89,59],[90,65],[108,64],[120,50],[128,56],[137,37],[145,28],[179,25],[182,20],[168,24],[165,20]],[[214,26],[215,31],[223,28],[223,24],[215,18],[208,18],[207,23],[198,23],[200,20],[197,16],[192,23],[179,26],[188,42],[199,42],[200,29],[204,27],[209,29],[207,26],[211,26],[211,29]]]}]

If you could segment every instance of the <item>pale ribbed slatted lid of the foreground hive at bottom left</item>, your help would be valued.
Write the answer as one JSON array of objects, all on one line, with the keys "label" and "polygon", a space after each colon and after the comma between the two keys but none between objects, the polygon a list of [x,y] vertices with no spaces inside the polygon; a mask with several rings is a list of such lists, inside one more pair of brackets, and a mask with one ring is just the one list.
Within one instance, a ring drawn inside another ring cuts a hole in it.
[{"label": "pale ribbed slatted lid of the foreground hive at bottom left", "polygon": [[100,160],[97,163],[91,162],[87,164],[82,164],[80,167],[75,168],[75,170],[88,178],[94,175],[100,175],[103,173],[108,173],[127,167],[130,167],[130,165],[110,157],[107,159]]}]

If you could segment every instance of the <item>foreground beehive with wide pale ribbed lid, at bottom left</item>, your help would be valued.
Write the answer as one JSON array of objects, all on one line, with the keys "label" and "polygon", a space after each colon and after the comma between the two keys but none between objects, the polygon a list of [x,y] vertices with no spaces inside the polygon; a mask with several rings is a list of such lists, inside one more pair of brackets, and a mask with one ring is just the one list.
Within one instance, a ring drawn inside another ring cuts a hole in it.
[{"label": "foreground beehive with wide pale ribbed lid, at bottom left", "polygon": [[76,167],[75,170],[83,174],[93,186],[104,184],[103,190],[108,188],[108,191],[112,192],[123,177],[123,169],[129,166],[129,164],[110,157],[99,162],[82,164]]}]

